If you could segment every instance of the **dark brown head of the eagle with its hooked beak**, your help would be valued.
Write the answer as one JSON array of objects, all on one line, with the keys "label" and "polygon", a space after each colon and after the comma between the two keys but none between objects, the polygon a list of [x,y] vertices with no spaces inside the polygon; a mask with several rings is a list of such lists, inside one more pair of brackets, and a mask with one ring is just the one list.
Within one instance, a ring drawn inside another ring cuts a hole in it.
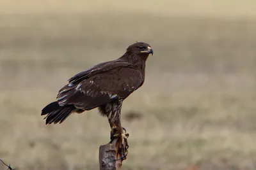
[{"label": "dark brown head of the eagle with its hooked beak", "polygon": [[135,53],[136,55],[147,56],[147,57],[150,53],[153,55],[153,50],[151,46],[143,42],[136,42],[130,45],[127,48],[127,52]]}]

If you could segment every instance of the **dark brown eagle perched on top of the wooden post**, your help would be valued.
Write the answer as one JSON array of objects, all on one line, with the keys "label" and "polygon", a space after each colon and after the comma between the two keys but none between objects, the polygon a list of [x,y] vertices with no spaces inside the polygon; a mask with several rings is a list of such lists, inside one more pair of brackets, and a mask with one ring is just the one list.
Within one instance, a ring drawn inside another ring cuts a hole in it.
[{"label": "dark brown eagle perched on top of the wooden post", "polygon": [[41,115],[46,115],[45,124],[61,124],[72,113],[98,108],[108,117],[111,134],[124,139],[127,134],[121,126],[122,102],[139,89],[145,80],[145,62],[153,55],[150,45],[136,42],[116,60],[102,62],[68,80],[59,90],[56,101],[48,104]]}]

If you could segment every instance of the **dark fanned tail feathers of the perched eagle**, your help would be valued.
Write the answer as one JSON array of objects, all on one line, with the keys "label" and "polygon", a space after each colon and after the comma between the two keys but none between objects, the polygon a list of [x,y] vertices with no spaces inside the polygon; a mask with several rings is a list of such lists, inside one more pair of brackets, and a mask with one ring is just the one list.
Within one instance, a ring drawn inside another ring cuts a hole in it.
[{"label": "dark fanned tail feathers of the perched eagle", "polygon": [[41,115],[46,115],[45,124],[61,124],[71,113],[75,112],[76,110],[77,109],[74,105],[60,106],[55,101],[45,106]]}]

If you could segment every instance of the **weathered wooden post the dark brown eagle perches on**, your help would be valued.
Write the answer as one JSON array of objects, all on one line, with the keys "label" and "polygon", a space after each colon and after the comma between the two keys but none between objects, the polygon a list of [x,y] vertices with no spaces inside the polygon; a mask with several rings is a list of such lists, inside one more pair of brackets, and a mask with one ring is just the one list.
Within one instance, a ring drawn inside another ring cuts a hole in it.
[{"label": "weathered wooden post the dark brown eagle perches on", "polygon": [[[120,139],[116,138],[112,143],[101,145],[99,148],[99,166],[100,170],[120,170],[123,160],[126,159],[127,154],[123,157],[120,155]],[[124,148],[127,147],[127,142],[124,143]],[[128,153],[127,150],[125,150]]]}]

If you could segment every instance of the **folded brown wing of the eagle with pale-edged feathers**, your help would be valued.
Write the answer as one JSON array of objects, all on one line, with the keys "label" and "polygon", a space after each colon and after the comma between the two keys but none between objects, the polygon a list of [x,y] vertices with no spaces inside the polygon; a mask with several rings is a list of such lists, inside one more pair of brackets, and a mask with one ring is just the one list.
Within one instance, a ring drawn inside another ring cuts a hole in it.
[{"label": "folded brown wing of the eagle with pale-edged feathers", "polygon": [[70,78],[57,96],[58,104],[74,104],[90,110],[115,99],[124,99],[143,82],[143,76],[131,63],[115,60],[97,65]]}]

